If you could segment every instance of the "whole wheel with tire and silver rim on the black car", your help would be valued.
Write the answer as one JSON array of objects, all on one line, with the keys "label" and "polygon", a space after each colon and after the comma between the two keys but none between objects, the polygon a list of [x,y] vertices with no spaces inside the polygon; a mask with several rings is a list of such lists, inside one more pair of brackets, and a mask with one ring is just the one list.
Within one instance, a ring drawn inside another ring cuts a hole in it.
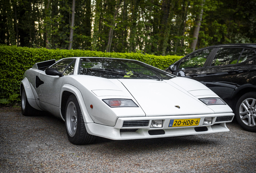
[{"label": "whole wheel with tire and silver rim on the black car", "polygon": [[256,92],[246,93],[238,99],[235,117],[243,129],[256,132]]}]

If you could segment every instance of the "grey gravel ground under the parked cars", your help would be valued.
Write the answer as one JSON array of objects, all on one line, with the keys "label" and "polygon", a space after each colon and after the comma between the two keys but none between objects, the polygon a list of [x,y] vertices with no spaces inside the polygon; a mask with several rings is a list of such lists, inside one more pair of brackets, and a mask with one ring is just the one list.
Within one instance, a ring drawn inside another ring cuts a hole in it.
[{"label": "grey gravel ground under the parked cars", "polygon": [[91,145],[68,141],[64,122],[52,115],[25,117],[0,109],[0,172],[255,173],[256,133],[236,122],[230,132]]}]

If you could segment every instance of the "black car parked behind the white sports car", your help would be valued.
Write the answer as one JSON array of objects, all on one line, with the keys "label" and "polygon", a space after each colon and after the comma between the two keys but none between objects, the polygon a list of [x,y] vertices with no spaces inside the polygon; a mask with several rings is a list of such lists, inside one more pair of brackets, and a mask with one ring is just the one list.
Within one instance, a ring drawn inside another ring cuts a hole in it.
[{"label": "black car parked behind the white sports car", "polygon": [[256,44],[202,48],[165,71],[205,84],[232,108],[239,125],[256,132]]}]

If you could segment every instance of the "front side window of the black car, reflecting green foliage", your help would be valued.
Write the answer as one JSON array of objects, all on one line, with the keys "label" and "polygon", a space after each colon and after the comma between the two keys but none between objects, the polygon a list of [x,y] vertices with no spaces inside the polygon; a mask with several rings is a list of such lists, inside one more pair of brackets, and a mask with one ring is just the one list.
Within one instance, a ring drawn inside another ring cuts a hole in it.
[{"label": "front side window of the black car, reflecting green foliage", "polygon": [[194,54],[184,58],[180,62],[180,66],[178,69],[188,69],[188,68],[198,68],[204,65],[207,57],[211,53],[212,49],[201,50],[199,52],[195,52]]}]

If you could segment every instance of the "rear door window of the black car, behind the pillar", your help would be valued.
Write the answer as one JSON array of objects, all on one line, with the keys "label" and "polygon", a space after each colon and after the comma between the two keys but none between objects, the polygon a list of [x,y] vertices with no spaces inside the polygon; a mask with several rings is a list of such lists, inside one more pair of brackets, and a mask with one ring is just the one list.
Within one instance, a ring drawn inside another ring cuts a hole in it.
[{"label": "rear door window of the black car, behind the pillar", "polygon": [[219,48],[211,66],[236,64],[243,48]]}]

